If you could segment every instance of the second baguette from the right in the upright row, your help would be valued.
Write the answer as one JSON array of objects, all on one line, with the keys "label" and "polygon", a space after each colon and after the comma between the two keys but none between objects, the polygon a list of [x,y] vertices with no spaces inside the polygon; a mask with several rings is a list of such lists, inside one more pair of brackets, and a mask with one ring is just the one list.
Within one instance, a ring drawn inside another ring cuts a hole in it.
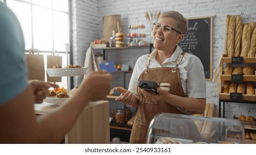
[{"label": "second baguette from the right in the upright row", "polygon": [[250,31],[249,25],[244,25],[242,32],[242,42],[241,42],[241,53],[240,56],[247,57],[250,48]]}]

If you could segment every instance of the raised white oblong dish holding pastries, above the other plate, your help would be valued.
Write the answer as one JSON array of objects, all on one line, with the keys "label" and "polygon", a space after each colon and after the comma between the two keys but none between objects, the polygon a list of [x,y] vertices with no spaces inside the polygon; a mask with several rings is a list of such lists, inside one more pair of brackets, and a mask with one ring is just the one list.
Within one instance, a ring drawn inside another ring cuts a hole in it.
[{"label": "raised white oblong dish holding pastries, above the other plate", "polygon": [[50,77],[61,76],[80,76],[86,73],[86,67],[83,68],[65,68],[65,69],[47,69],[47,73]]}]

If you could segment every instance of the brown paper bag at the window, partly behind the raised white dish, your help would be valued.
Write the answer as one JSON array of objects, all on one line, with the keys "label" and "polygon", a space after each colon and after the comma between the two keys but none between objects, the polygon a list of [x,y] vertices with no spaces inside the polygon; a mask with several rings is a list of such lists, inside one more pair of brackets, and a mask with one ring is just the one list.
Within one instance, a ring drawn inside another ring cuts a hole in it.
[{"label": "brown paper bag at the window, partly behind the raised white dish", "polygon": [[[57,53],[57,55],[54,55]],[[52,68],[54,65],[62,66],[62,56],[58,56],[58,51],[52,51],[52,55],[47,55],[47,68]],[[62,77],[50,77],[47,73],[48,82],[62,82]]]}]

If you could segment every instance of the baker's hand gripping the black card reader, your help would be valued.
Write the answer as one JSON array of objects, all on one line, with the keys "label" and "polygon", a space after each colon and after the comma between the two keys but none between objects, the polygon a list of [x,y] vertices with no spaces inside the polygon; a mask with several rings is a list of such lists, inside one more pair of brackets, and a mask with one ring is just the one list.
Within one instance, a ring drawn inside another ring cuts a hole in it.
[{"label": "baker's hand gripping the black card reader", "polygon": [[171,95],[167,90],[163,90],[160,88],[157,88],[158,94],[156,95],[143,89],[141,89],[141,92],[146,98],[150,99],[152,102],[166,101]]}]

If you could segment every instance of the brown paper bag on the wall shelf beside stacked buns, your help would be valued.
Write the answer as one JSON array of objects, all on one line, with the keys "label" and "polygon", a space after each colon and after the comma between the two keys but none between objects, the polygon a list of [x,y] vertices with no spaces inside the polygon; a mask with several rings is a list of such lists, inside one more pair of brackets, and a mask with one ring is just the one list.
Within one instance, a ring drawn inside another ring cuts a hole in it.
[{"label": "brown paper bag on the wall shelf beside stacked buns", "polygon": [[112,31],[118,32],[117,22],[119,22],[119,28],[121,32],[121,15],[111,15],[103,17],[103,38],[106,42],[109,42],[109,38],[112,37]]}]

